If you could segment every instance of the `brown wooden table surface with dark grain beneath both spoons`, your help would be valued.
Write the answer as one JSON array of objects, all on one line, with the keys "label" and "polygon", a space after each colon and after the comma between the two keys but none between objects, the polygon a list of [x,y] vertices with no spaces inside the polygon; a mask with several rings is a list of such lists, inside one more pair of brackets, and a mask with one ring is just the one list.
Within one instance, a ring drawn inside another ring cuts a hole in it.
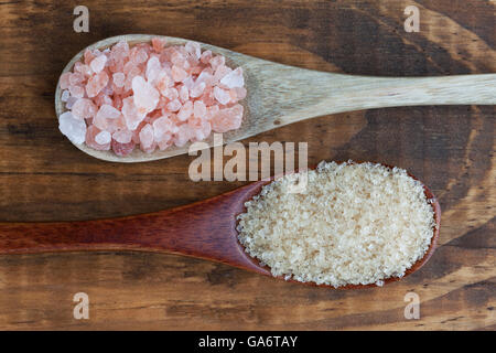
[{"label": "brown wooden table surface with dark grain beneath both spoons", "polygon": [[[84,46],[125,33],[181,36],[322,71],[427,76],[494,73],[495,3],[436,1],[0,2],[0,221],[69,221],[159,211],[244,182],[190,181],[194,157],[118,164],[64,138],[54,92]],[[403,10],[420,9],[407,33]],[[320,117],[248,141],[309,141],[309,163],[373,160],[424,181],[443,211],[440,247],[420,271],[384,288],[287,284],[174,255],[0,256],[0,329],[495,330],[494,106],[374,109]],[[73,296],[89,296],[75,320]],[[419,296],[407,320],[405,296]]]}]

